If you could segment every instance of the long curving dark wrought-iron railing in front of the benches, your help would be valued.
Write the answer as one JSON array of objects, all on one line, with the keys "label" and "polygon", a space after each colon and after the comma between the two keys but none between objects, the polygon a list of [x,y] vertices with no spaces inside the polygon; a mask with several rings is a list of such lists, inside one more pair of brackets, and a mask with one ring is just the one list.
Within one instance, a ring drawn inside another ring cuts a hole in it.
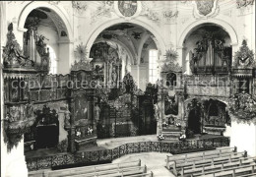
[{"label": "long curving dark wrought-iron railing in front of the benches", "polygon": [[185,142],[164,143],[164,142],[138,142],[129,143],[117,148],[85,151],[77,153],[58,154],[43,157],[27,158],[29,171],[54,168],[64,165],[75,164],[100,164],[102,161],[112,161],[126,154],[140,152],[168,152],[184,151],[197,148],[219,148],[229,147],[229,138],[213,138],[205,140],[193,140]]}]

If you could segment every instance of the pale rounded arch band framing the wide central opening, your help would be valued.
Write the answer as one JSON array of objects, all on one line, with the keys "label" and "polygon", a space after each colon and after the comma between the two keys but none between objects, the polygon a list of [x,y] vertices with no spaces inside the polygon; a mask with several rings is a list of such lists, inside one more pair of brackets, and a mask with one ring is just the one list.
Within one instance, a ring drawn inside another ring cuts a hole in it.
[{"label": "pale rounded arch band framing the wide central opening", "polygon": [[135,24],[135,25],[138,25],[138,26],[141,26],[142,28],[144,29],[148,29],[149,31],[151,31],[154,36],[157,38],[158,42],[156,42],[156,45],[158,46],[158,49],[160,51],[165,51],[165,43],[164,43],[164,40],[163,38],[160,36],[160,33],[158,32],[158,30],[152,28],[150,25],[146,24],[145,22],[142,22],[142,21],[138,21],[138,20],[129,20],[129,21],[126,21],[125,19],[115,19],[115,20],[111,20],[111,21],[108,21],[108,22],[105,22],[105,23],[102,23],[98,26],[96,26],[95,29],[92,29],[89,33],[89,37],[86,38],[85,41],[87,41],[86,45],[87,45],[87,48],[88,48],[88,51],[91,50],[95,40],[96,40],[96,37],[98,36],[98,34],[104,30],[104,29],[107,29],[111,26],[114,26],[116,24],[121,24],[121,23],[130,23],[130,24]]}]

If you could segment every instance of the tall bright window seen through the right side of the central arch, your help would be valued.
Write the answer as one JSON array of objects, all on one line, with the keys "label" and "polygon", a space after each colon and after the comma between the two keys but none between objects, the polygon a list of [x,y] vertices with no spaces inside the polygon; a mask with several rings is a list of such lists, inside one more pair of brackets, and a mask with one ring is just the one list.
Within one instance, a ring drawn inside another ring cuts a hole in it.
[{"label": "tall bright window seen through the right side of the central arch", "polygon": [[149,82],[155,84],[158,80],[158,50],[150,50],[149,56]]}]

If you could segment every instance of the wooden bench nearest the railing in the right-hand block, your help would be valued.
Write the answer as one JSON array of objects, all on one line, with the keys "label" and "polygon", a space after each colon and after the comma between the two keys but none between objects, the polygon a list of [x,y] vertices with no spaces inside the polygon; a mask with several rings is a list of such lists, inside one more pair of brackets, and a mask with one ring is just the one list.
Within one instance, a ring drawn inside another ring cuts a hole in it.
[{"label": "wooden bench nearest the railing in the right-hand block", "polygon": [[189,158],[196,158],[196,157],[205,157],[205,156],[213,156],[213,155],[219,155],[223,153],[228,152],[236,152],[237,148],[219,148],[215,150],[209,150],[209,151],[203,151],[203,152],[193,152],[193,153],[185,153],[180,155],[167,155],[166,158],[166,167],[170,169],[169,167],[175,160],[185,160],[187,161]]}]

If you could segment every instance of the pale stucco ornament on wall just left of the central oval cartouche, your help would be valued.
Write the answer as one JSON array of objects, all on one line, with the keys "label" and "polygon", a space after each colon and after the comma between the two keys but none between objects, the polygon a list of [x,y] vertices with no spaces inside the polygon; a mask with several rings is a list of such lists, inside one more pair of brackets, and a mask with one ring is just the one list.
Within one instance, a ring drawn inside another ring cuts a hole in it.
[{"label": "pale stucco ornament on wall just left of the central oval cartouche", "polygon": [[96,8],[96,11],[91,13],[91,25],[95,24],[97,20],[102,17],[111,18],[111,12],[114,11],[113,1],[102,1]]}]

